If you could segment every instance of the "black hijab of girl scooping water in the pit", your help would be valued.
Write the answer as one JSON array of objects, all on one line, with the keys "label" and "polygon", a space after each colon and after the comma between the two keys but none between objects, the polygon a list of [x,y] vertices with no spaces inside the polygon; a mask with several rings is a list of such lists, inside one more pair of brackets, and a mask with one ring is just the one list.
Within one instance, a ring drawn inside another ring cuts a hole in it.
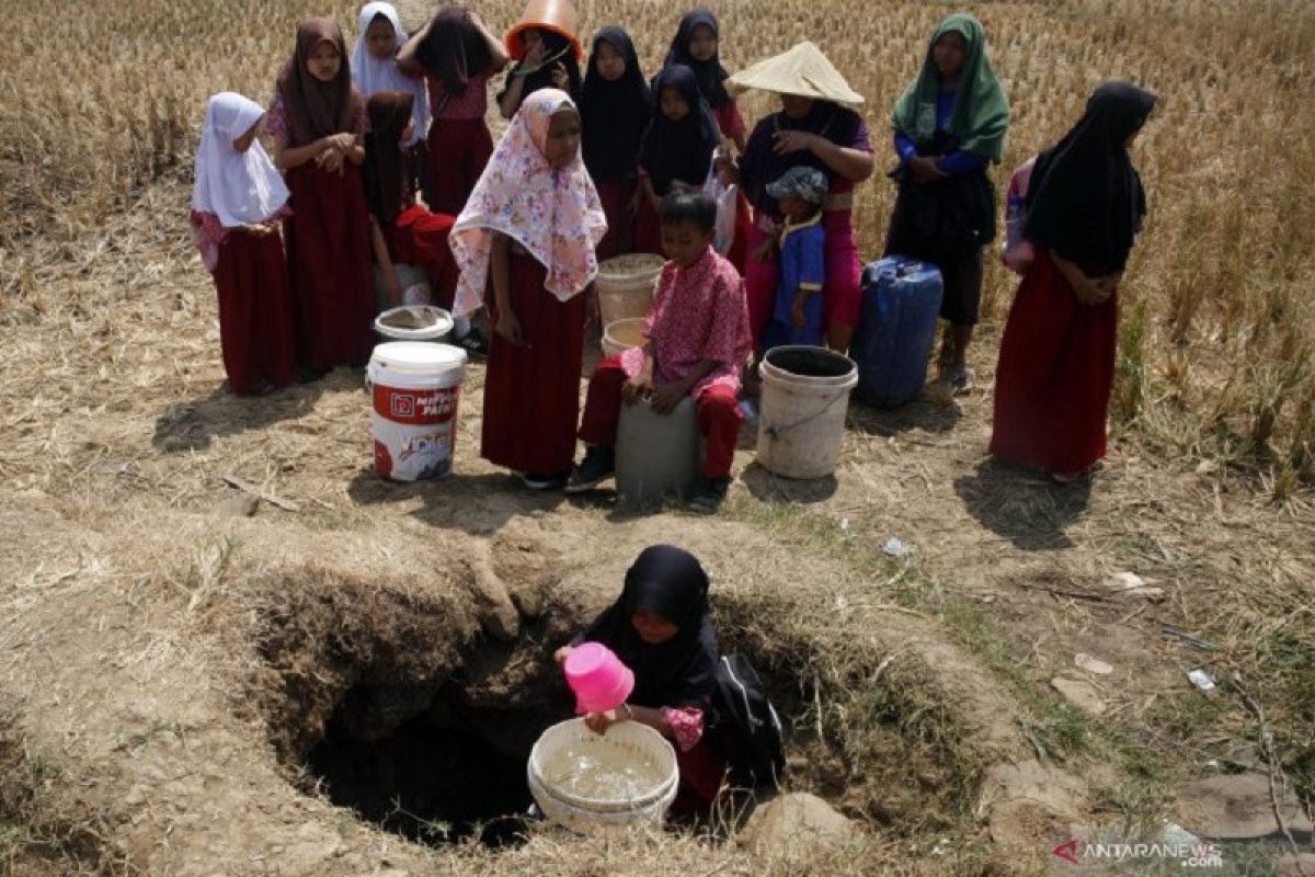
[{"label": "black hijab of girl scooping water in the pit", "polygon": [[[630,617],[640,610],[680,627],[650,646]],[[707,619],[707,573],[698,559],[675,546],[644,548],[626,572],[621,598],[576,638],[602,643],[635,673],[630,701],[639,706],[706,709],[717,681],[717,634]]]}]

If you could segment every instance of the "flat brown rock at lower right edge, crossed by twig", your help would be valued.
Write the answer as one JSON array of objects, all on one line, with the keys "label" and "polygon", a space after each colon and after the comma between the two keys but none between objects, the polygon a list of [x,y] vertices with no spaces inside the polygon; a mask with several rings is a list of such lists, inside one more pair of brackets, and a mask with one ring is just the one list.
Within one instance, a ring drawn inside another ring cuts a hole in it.
[{"label": "flat brown rock at lower right edge, crossed by twig", "polygon": [[[1289,790],[1278,801],[1289,831],[1308,835],[1311,822],[1297,795]],[[1279,834],[1269,797],[1269,776],[1264,773],[1189,782],[1178,790],[1177,811],[1178,822],[1185,828],[1211,840],[1255,840]]]}]

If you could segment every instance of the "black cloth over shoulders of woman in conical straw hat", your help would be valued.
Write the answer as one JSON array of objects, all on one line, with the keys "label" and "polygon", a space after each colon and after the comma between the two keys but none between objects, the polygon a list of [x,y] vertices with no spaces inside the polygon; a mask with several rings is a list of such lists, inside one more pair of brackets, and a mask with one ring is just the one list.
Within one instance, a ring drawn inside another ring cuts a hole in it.
[{"label": "black cloth over shoulders of woman in conical straw hat", "polygon": [[785,112],[776,112],[760,121],[744,145],[740,156],[740,176],[744,197],[759,210],[780,218],[776,199],[767,195],[767,184],[778,179],[792,167],[813,167],[834,180],[835,172],[813,153],[780,154],[776,151],[777,131],[807,131],[819,134],[836,146],[849,147],[859,137],[863,118],[851,109],[828,100],[814,100],[809,114],[803,118],[790,118]]}]

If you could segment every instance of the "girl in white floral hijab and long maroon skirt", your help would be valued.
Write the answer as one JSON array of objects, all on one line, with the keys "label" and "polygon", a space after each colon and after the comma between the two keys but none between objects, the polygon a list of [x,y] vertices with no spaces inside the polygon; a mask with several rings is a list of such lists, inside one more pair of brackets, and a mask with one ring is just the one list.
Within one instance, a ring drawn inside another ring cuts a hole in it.
[{"label": "girl in white floral hijab and long maroon skirt", "polygon": [[[608,230],[565,92],[525,99],[452,227],[454,312],[489,305],[480,454],[526,486],[565,485],[580,413],[585,300]],[[492,295],[490,295],[492,293]]]}]

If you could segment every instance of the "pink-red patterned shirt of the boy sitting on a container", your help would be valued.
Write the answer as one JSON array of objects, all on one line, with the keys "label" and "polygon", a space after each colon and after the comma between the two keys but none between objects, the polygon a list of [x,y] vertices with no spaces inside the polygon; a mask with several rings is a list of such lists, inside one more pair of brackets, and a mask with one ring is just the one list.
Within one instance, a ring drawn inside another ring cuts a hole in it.
[{"label": "pink-red patterned shirt of the boy sitting on a container", "polygon": [[[748,298],[735,266],[711,247],[688,268],[675,262],[663,266],[644,337],[654,352],[655,384],[681,380],[700,362],[713,359],[717,368],[689,394],[698,398],[710,387],[738,393],[752,341]],[[621,364],[634,377],[643,368],[644,348],[631,347],[621,355]]]}]

